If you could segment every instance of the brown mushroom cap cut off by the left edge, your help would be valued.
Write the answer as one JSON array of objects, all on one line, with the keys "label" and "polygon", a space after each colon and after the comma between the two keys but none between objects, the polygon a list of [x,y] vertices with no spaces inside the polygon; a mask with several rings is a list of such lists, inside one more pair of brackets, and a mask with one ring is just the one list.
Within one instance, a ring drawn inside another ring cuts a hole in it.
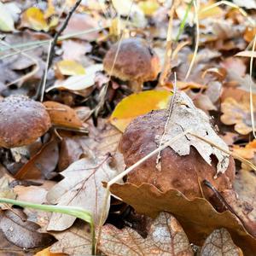
[{"label": "brown mushroom cap cut off by the left edge", "polygon": [[44,105],[26,96],[8,96],[0,102],[0,147],[15,148],[34,142],[48,131]]}]

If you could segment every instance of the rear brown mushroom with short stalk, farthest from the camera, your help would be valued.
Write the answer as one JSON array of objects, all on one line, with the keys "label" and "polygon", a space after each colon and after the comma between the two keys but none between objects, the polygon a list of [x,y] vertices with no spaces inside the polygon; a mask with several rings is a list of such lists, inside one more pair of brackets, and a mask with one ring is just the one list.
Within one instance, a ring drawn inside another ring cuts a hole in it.
[{"label": "rear brown mushroom with short stalk, farthest from the camera", "polygon": [[144,82],[153,81],[160,73],[159,57],[142,38],[124,39],[120,46],[119,42],[113,44],[103,60],[103,65],[109,75],[128,81],[133,91],[142,90]]}]

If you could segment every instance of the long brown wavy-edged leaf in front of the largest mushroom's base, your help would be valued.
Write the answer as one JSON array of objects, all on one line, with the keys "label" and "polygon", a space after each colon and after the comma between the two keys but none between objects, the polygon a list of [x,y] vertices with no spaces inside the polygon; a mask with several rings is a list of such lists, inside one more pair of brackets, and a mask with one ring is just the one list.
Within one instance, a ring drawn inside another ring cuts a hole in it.
[{"label": "long brown wavy-edged leaf in front of the largest mushroom's base", "polygon": [[213,230],[225,228],[246,256],[256,252],[256,239],[247,233],[236,216],[229,212],[217,212],[210,202],[203,198],[187,199],[176,189],[161,192],[152,184],[113,184],[113,195],[134,207],[138,213],[156,218],[159,212],[171,212],[182,225],[189,241],[202,246]]}]

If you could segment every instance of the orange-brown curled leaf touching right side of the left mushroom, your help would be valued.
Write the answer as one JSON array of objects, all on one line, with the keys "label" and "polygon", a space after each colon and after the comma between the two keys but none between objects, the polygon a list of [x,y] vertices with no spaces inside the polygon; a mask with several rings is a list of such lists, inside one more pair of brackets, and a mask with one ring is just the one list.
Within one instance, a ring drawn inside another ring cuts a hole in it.
[{"label": "orange-brown curled leaf touching right side of the left mushroom", "polygon": [[67,105],[58,102],[44,102],[44,107],[47,109],[53,125],[70,128],[83,127],[76,112]]}]

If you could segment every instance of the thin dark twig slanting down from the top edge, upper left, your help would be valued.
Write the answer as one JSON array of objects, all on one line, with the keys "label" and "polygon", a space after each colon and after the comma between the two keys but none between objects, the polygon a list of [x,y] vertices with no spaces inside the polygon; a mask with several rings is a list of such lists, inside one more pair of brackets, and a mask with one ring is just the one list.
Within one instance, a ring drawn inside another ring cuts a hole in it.
[{"label": "thin dark twig slanting down from the top edge, upper left", "polygon": [[[55,57],[55,45],[57,44],[58,42],[58,38],[60,37],[61,35],[61,32],[63,32],[65,30],[65,28],[67,27],[67,24],[68,24],[68,21],[70,20],[71,16],[73,15],[74,11],[79,7],[79,4],[82,2],[82,0],[78,0],[74,6],[73,6],[73,9],[71,9],[66,17],[66,19],[64,20],[60,30],[58,32],[55,33],[55,37],[51,40],[51,47],[50,47],[50,50],[49,50],[49,61],[48,61],[48,65],[47,65],[47,68],[44,70],[44,75],[43,75],[43,78],[41,79],[39,85],[38,85],[38,90],[36,92],[36,95],[33,96],[33,98],[35,100],[38,100],[38,99],[42,99],[43,100],[43,96],[44,96],[44,87],[45,87],[45,83],[46,83],[46,80],[44,81],[45,77],[47,76],[47,73],[48,73],[48,70],[49,70],[49,67],[51,66],[52,64],[52,61]],[[43,96],[42,96],[43,95]]]}]

